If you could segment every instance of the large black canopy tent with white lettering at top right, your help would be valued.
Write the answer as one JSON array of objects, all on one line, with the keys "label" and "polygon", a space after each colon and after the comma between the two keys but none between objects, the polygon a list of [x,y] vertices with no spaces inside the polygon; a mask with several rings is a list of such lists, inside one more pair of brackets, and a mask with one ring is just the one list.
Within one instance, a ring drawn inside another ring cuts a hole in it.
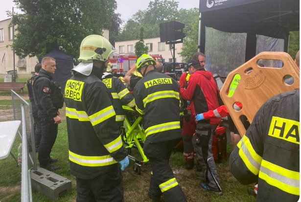
[{"label": "large black canopy tent with white lettering at top right", "polygon": [[256,34],[284,39],[300,29],[299,0],[200,0],[199,51],[205,52],[205,26],[247,33],[245,61],[256,54]]}]

